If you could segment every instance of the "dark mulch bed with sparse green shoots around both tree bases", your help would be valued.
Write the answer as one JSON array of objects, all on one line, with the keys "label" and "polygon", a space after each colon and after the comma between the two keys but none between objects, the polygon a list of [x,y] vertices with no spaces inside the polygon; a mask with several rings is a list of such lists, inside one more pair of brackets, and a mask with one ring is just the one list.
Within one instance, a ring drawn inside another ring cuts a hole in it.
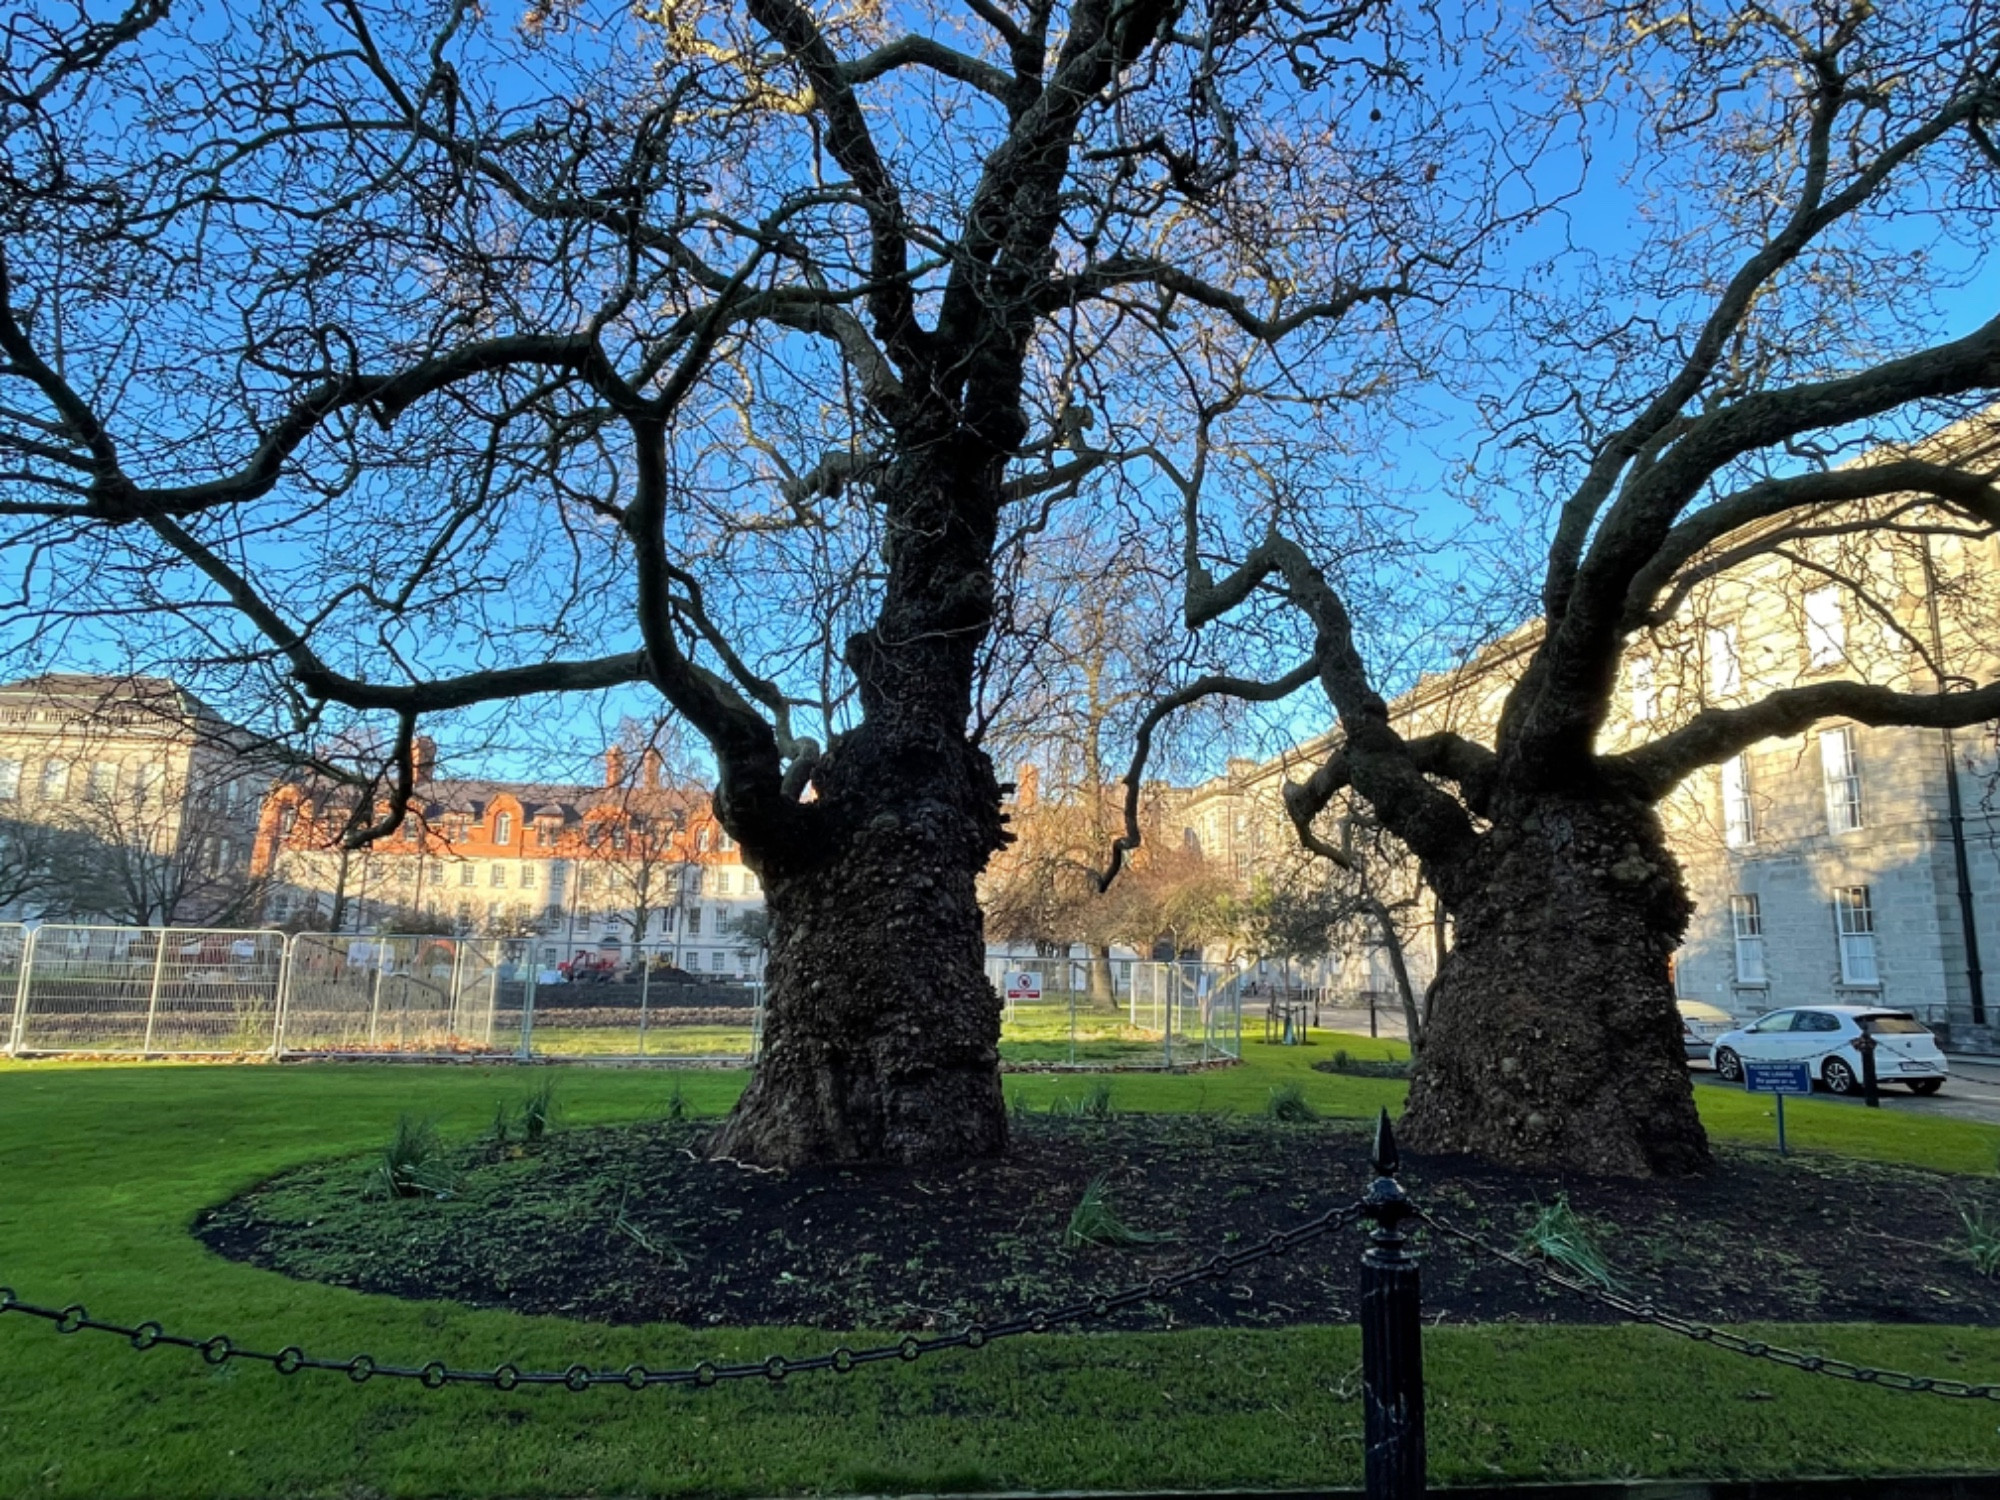
[{"label": "dark mulch bed with sparse green shoots around both tree bases", "polygon": [[[440,1164],[446,1196],[370,1196],[372,1160],[308,1166],[208,1210],[212,1250],[288,1276],[410,1298],[616,1324],[932,1330],[992,1322],[1172,1274],[1350,1202],[1366,1180],[1352,1124],[1208,1116],[1016,1118],[1002,1160],[758,1172],[702,1160],[700,1128],[560,1130],[480,1142]],[[1146,1244],[1070,1244],[1102,1178]],[[1716,1322],[2000,1322],[1962,1214],[2000,1224],[2000,1182],[1826,1156],[1722,1152],[1692,1182],[1606,1182],[1406,1156],[1410,1192],[1520,1246],[1558,1200],[1622,1292]],[[1422,1244],[1422,1240],[1420,1240]],[[1362,1232],[1346,1230],[1114,1328],[1346,1322]],[[1426,1316],[1610,1322],[1614,1314],[1424,1246]]]}]

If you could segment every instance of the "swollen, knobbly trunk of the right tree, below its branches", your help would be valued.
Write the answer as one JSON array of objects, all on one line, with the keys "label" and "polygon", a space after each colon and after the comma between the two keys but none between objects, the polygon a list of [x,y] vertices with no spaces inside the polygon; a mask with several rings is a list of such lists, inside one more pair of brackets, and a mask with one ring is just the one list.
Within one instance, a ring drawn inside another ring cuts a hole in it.
[{"label": "swollen, knobbly trunk of the right tree, below its branches", "polygon": [[1652,810],[1494,808],[1492,832],[1440,876],[1454,944],[1408,1142],[1596,1174],[1708,1168],[1668,980],[1692,906]]}]

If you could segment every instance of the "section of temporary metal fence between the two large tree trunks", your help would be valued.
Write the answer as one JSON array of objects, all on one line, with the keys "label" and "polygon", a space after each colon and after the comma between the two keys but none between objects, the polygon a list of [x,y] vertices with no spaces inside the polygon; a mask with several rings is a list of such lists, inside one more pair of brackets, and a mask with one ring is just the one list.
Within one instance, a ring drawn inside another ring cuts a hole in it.
[{"label": "section of temporary metal fence between the two large tree trunks", "polygon": [[1242,1056],[1234,964],[990,956],[1000,1056],[1076,1068],[1188,1068]]}]

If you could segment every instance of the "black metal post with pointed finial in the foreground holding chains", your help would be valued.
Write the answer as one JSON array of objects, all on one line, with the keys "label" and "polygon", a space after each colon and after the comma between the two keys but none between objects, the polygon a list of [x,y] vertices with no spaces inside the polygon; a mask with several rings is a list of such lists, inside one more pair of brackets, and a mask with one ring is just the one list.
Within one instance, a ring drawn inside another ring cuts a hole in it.
[{"label": "black metal post with pointed finial in the foreground holding chains", "polygon": [[1402,1234],[1416,1210],[1396,1182],[1388,1110],[1376,1122],[1374,1172],[1362,1198],[1374,1220],[1362,1252],[1364,1482],[1368,1500],[1412,1500],[1426,1492],[1424,1302],[1416,1256]]}]

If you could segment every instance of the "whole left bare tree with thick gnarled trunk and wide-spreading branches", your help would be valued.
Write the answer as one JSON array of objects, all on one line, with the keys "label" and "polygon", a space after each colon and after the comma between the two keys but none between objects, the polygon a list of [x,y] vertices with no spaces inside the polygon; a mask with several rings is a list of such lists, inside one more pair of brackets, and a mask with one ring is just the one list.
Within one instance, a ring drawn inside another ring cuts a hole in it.
[{"label": "whole left bare tree with thick gnarled trunk and wide-spreading branches", "polygon": [[656,694],[772,912],[718,1146],[996,1152],[998,568],[1086,496],[1158,546],[1150,476],[1222,494],[1256,414],[1332,420],[1398,308],[1476,274],[1536,128],[1430,86],[1444,30],[1388,0],[12,28],[14,618],[178,616],[156,654],[298,734],[392,722],[354,844],[424,716]]}]

